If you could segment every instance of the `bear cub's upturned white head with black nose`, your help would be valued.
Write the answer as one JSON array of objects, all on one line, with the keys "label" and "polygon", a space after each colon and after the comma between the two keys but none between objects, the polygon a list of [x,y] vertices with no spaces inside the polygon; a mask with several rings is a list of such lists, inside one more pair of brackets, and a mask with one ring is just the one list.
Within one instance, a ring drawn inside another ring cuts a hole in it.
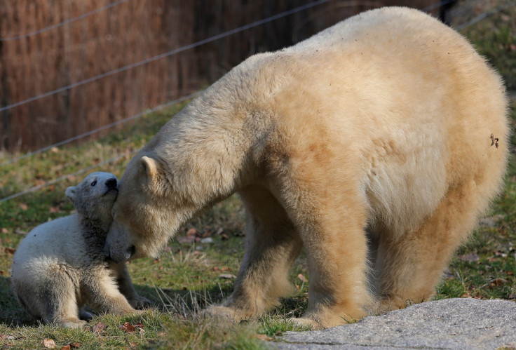
[{"label": "bear cub's upturned white head with black nose", "polygon": [[77,213],[86,222],[100,222],[109,228],[111,208],[118,194],[118,179],[111,173],[96,172],[86,176],[77,186],[68,187],[65,194],[74,203]]}]

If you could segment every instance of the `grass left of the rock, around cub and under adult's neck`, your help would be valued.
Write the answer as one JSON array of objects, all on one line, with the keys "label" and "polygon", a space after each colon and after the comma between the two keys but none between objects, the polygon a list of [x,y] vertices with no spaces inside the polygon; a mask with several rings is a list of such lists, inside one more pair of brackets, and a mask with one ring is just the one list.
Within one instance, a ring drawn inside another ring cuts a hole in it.
[{"label": "grass left of the rock, around cub and under adult's neck", "polygon": [[[53,150],[4,166],[0,196],[8,196],[27,187],[37,186],[57,177],[127,154],[102,166],[120,177],[130,160],[130,152],[140,149],[157,130],[184,105],[148,114],[138,123],[71,147]],[[4,155],[6,156],[6,155]],[[11,155],[11,157],[16,155]],[[4,161],[1,159],[0,161]],[[56,166],[58,164],[59,166]],[[92,169],[94,171],[97,169]],[[198,314],[206,305],[220,302],[233,290],[234,278],[243,257],[245,237],[242,203],[233,196],[186,225],[179,236],[196,227],[199,235],[210,236],[212,243],[171,241],[158,260],[141,259],[128,264],[135,288],[154,302],[154,308],[138,317],[100,315],[89,323],[104,323],[102,332],[64,330],[41,325],[27,318],[10,289],[9,269],[13,250],[27,232],[41,222],[74,213],[64,189],[80,182],[84,174],[67,177],[39,191],[0,203],[0,346],[8,349],[42,347],[43,339],[53,339],[57,348],[81,344],[81,349],[148,347],[152,349],[259,349],[264,344],[256,335],[275,335],[286,330],[302,330],[278,316],[276,311],[262,323],[233,325],[224,320],[208,319]],[[223,232],[217,231],[223,229]],[[303,266],[303,264],[300,264]],[[301,268],[292,271],[295,280]],[[285,306],[301,314],[306,307],[308,285],[298,280],[298,295],[285,299]],[[125,322],[142,323],[143,328],[128,333],[119,329]]]}]

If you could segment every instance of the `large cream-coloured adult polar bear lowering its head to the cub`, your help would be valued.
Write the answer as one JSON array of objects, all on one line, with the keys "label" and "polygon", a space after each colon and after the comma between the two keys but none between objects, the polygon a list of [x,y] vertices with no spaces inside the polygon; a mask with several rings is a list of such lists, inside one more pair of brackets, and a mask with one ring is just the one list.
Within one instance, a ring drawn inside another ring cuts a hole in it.
[{"label": "large cream-coloured adult polar bear lowering its head to the cub", "polygon": [[301,323],[420,302],[501,188],[507,124],[501,79],[461,35],[414,9],[367,11],[248,58],[166,123],[125,170],[104,253],[156,255],[238,192],[245,257],[212,313],[276,306],[302,246]]}]

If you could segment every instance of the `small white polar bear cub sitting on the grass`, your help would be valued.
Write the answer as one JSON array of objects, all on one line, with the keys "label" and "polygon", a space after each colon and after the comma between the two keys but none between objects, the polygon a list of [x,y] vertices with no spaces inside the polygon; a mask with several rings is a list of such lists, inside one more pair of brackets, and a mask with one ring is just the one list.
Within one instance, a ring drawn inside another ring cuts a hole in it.
[{"label": "small white polar bear cub sitting on the grass", "polygon": [[149,300],[137,295],[123,262],[102,254],[118,180],[111,173],[91,173],[66,195],[77,210],[32,229],[13,257],[11,283],[20,305],[36,318],[79,328],[96,311],[135,314]]}]

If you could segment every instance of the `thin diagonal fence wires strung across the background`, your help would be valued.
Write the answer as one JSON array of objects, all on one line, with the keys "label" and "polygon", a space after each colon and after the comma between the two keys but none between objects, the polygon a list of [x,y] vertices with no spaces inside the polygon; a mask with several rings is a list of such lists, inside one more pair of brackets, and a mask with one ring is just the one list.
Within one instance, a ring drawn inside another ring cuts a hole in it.
[{"label": "thin diagonal fence wires strung across the background", "polygon": [[[54,28],[60,27],[62,25],[67,25],[67,24],[69,24],[71,22],[74,22],[76,20],[80,20],[82,18],[85,18],[88,15],[93,15],[94,13],[98,13],[100,11],[107,10],[108,8],[112,8],[112,7],[114,7],[114,6],[118,5],[118,4],[122,4],[123,2],[126,2],[126,1],[130,1],[130,0],[117,1],[117,2],[115,2],[113,4],[109,4],[107,6],[103,6],[102,8],[98,8],[95,11],[84,13],[83,15],[80,15],[80,16],[78,16],[76,18],[72,18],[71,20],[66,20],[66,21],[60,22],[57,25],[53,25],[53,26],[50,26],[50,27],[39,29],[38,31],[29,33],[29,34],[24,34],[24,35],[20,35],[20,36],[13,36],[13,37],[8,37],[8,38],[0,38],[0,41],[22,39],[22,38],[27,37],[27,36],[32,36],[32,35],[39,34],[41,32],[46,32],[46,31],[48,31],[50,29],[54,29]],[[93,77],[85,79],[83,81],[72,83],[72,84],[69,84],[67,86],[63,86],[62,88],[58,88],[58,89],[55,89],[55,90],[52,90],[52,91],[48,91],[47,93],[42,93],[40,95],[36,95],[34,97],[30,97],[30,98],[28,98],[26,100],[22,100],[20,102],[13,103],[13,104],[7,105],[5,107],[1,107],[0,108],[0,112],[5,111],[7,109],[11,109],[11,108],[17,107],[17,106],[20,106],[20,105],[24,105],[24,104],[26,104],[28,102],[32,102],[34,100],[38,100],[40,98],[43,98],[43,97],[46,97],[46,96],[49,96],[49,95],[54,95],[55,93],[60,93],[60,92],[62,92],[64,90],[69,90],[69,89],[74,88],[76,86],[81,86],[81,85],[84,85],[86,83],[90,83],[91,81],[96,81],[98,79],[102,79],[105,76],[113,75],[113,74],[116,74],[116,73],[119,73],[119,72],[124,72],[124,71],[126,71],[128,69],[139,67],[141,65],[146,65],[149,62],[154,62],[155,60],[160,60],[161,58],[165,58],[165,57],[168,57],[170,55],[175,55],[175,54],[180,53],[182,51],[189,50],[190,48],[195,48],[195,47],[201,46],[201,45],[203,45],[205,43],[210,43],[212,41],[216,41],[218,39],[222,39],[224,37],[231,36],[231,35],[236,34],[238,32],[243,32],[243,31],[245,31],[247,29],[250,29],[250,28],[253,28],[253,27],[257,27],[259,25],[264,25],[265,23],[272,22],[273,20],[278,20],[280,18],[285,18],[288,15],[292,15],[294,13],[298,13],[300,11],[304,11],[304,10],[306,10],[308,8],[312,8],[314,6],[318,6],[320,4],[324,4],[324,3],[328,2],[328,1],[330,1],[330,0],[319,0],[319,1],[314,1],[312,3],[306,4],[306,5],[303,5],[303,6],[299,6],[297,8],[292,8],[289,11],[284,11],[282,13],[278,13],[277,15],[269,16],[267,18],[264,18],[263,20],[259,20],[257,22],[252,22],[252,23],[250,23],[248,25],[244,25],[244,26],[241,26],[241,27],[238,27],[238,28],[235,28],[235,29],[231,29],[231,30],[229,30],[227,32],[223,32],[223,33],[217,34],[215,36],[210,36],[210,37],[208,37],[206,39],[203,39],[201,41],[196,41],[195,43],[191,43],[189,45],[182,46],[181,48],[177,48],[175,50],[168,51],[168,52],[162,53],[160,55],[156,55],[156,56],[154,56],[152,58],[148,58],[148,59],[142,60],[140,62],[135,62],[135,63],[133,63],[131,65],[126,65],[124,67],[120,67],[118,69],[114,69],[114,70],[112,70],[110,72],[106,72],[104,74],[99,74],[97,76],[93,76]],[[452,1],[453,0],[443,0],[443,1],[440,1],[440,2],[438,2],[436,4],[433,4],[431,6],[427,6],[426,8],[423,8],[422,11],[425,11],[425,12],[432,11],[435,8],[440,8],[441,6],[450,4]],[[491,8],[491,10],[485,11],[484,13],[480,13],[480,15],[477,15],[475,18],[473,18],[471,20],[468,20],[468,22],[465,22],[462,25],[457,26],[456,29],[457,30],[461,30],[461,29],[464,29],[466,27],[469,27],[470,25],[474,25],[475,23],[480,22],[481,20],[484,20],[485,18],[489,17],[489,15],[494,15],[496,13],[504,11],[505,9],[510,8],[511,6],[515,6],[515,5],[516,5],[516,0],[515,1],[511,1],[509,4],[506,4],[505,6],[500,6],[498,8]],[[69,142],[74,142],[76,140],[80,140],[83,137],[94,135],[95,133],[99,133],[102,130],[107,130],[107,129],[112,128],[114,126],[118,126],[118,125],[120,125],[122,123],[125,123],[125,122],[128,122],[128,121],[133,121],[135,119],[140,118],[141,116],[144,116],[145,114],[148,114],[148,113],[151,113],[151,112],[156,112],[156,111],[164,109],[166,107],[170,107],[172,105],[175,105],[175,104],[177,104],[179,102],[183,102],[185,100],[189,100],[191,98],[194,98],[197,95],[199,95],[200,93],[201,93],[200,90],[196,91],[195,93],[192,93],[190,95],[186,95],[184,97],[180,97],[177,100],[173,100],[173,101],[167,102],[167,103],[165,103],[163,105],[158,105],[158,106],[153,107],[151,109],[147,109],[144,112],[140,112],[140,113],[135,114],[133,116],[129,116],[128,118],[122,119],[120,121],[116,121],[114,123],[107,124],[106,126],[102,126],[101,128],[96,128],[94,130],[88,131],[87,133],[82,133],[81,135],[76,135],[74,137],[70,137],[67,140],[63,140],[63,141],[57,142],[55,144],[50,144],[49,146],[43,147],[41,149],[37,149],[34,152],[28,152],[27,154],[23,154],[22,156],[18,156],[18,157],[14,158],[14,159],[10,159],[8,161],[4,161],[3,163],[0,163],[0,167],[1,166],[6,166],[8,164],[15,163],[15,162],[20,161],[21,159],[25,159],[25,158],[27,158],[29,156],[34,156],[36,154],[40,154],[42,152],[46,152],[49,149],[53,149],[54,147],[60,147],[60,146],[62,146],[64,144],[68,144]],[[60,182],[62,180],[66,180],[69,177],[72,177],[72,176],[75,176],[75,175],[79,175],[81,173],[86,173],[89,170],[93,170],[94,168],[98,168],[98,167],[103,166],[105,164],[114,163],[114,162],[118,161],[119,159],[123,159],[123,157],[130,156],[132,154],[135,154],[136,152],[137,151],[126,153],[126,154],[122,154],[122,155],[118,155],[118,156],[114,156],[111,159],[107,159],[106,161],[102,161],[101,163],[97,163],[97,164],[95,164],[93,166],[88,166],[87,168],[83,168],[81,170],[77,170],[74,173],[70,173],[70,174],[67,174],[67,175],[62,175],[60,177],[57,177],[54,180],[50,180],[50,181],[45,182],[43,184],[39,184],[37,186],[30,187],[28,189],[24,189],[23,191],[20,191],[18,193],[11,194],[11,195],[6,196],[4,198],[0,198],[0,203],[3,203],[5,201],[9,201],[9,200],[11,200],[13,198],[18,198],[20,196],[23,196],[25,194],[29,194],[30,192],[37,191],[39,189],[43,189],[45,187],[50,186],[51,184],[55,184],[55,183]]]}]

